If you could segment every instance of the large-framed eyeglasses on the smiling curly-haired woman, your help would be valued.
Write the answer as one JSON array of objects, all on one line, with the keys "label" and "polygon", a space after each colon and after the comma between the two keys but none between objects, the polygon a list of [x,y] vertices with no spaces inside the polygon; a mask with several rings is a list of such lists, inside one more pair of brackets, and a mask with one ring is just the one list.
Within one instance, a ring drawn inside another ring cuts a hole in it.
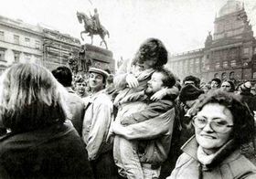
[{"label": "large-framed eyeglasses on the smiling curly-haired woman", "polygon": [[192,119],[192,124],[201,130],[204,129],[208,123],[212,130],[219,133],[229,132],[229,129],[233,127],[233,125],[229,125],[227,121],[223,121],[220,119],[208,121],[208,119],[198,116],[195,116]]}]

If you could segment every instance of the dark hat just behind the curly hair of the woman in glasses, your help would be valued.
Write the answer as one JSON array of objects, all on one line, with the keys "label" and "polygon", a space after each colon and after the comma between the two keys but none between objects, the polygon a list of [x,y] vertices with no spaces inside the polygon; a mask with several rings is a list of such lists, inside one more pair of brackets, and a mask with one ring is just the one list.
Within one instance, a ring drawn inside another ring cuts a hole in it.
[{"label": "dark hat just behind the curly hair of the woman in glasses", "polygon": [[196,100],[204,91],[201,89],[197,89],[194,85],[186,85],[180,90],[179,100],[185,102],[187,100]]}]

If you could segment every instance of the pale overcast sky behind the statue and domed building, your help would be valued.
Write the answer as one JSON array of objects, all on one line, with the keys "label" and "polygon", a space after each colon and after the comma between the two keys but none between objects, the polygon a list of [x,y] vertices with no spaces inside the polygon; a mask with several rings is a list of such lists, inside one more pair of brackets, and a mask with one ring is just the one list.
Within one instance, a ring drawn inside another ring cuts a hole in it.
[{"label": "pale overcast sky behind the statue and domed building", "polygon": [[[216,13],[227,0],[0,0],[1,16],[37,23],[80,38],[83,26],[76,12],[93,14],[97,7],[101,24],[114,58],[133,58],[147,37],[160,38],[170,53],[204,46],[208,31],[213,32]],[[256,0],[244,2],[255,32]],[[256,35],[255,35],[256,36]],[[86,36],[84,36],[86,37]],[[99,45],[100,37],[95,38]],[[84,43],[91,43],[89,37]]]}]

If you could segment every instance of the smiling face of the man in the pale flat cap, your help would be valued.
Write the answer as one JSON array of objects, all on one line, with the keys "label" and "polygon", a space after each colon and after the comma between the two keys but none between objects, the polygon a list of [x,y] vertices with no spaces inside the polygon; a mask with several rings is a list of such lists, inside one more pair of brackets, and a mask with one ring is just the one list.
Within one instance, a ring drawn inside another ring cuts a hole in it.
[{"label": "smiling face of the man in the pale flat cap", "polygon": [[89,86],[93,90],[101,90],[104,87],[103,76],[98,73],[90,73]]}]

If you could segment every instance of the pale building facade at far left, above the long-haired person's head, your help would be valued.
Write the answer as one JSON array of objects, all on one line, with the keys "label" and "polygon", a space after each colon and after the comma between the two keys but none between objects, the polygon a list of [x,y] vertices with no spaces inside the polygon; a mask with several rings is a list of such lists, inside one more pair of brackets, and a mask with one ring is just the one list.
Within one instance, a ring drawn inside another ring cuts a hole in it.
[{"label": "pale building facade at far left, above the long-haired person's head", "polygon": [[39,26],[0,16],[0,73],[16,62],[40,63],[42,52]]}]

